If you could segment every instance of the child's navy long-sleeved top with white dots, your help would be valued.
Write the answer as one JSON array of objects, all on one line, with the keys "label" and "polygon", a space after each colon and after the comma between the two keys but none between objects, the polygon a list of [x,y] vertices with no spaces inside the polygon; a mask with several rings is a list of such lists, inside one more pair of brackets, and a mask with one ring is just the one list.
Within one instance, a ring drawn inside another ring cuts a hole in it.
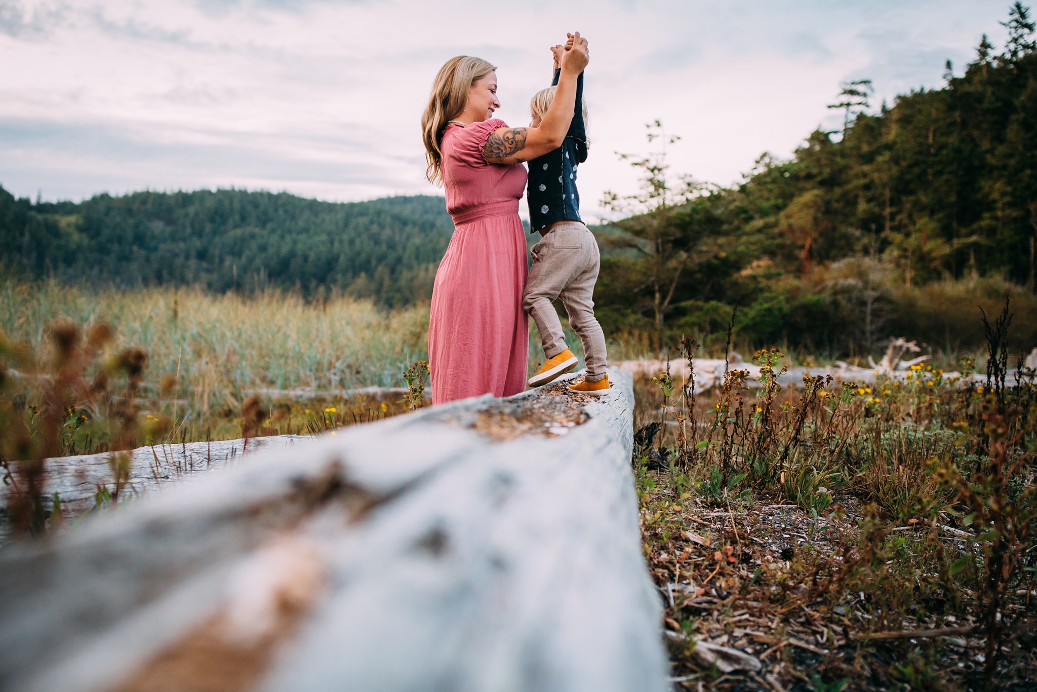
[{"label": "child's navy long-sleeved top with white dots", "polygon": [[[561,70],[555,71],[552,85],[558,84]],[[529,162],[530,232],[543,230],[555,221],[580,218],[577,166],[587,160],[587,131],[583,121],[583,73],[577,78],[577,106],[562,145]]]}]

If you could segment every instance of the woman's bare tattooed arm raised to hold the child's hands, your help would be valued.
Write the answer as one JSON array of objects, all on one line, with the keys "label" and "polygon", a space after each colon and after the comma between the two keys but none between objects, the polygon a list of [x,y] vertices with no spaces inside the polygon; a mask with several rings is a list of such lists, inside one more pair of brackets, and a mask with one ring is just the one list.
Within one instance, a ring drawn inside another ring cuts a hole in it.
[{"label": "woman's bare tattooed arm raised to hold the child's hands", "polygon": [[572,120],[577,101],[577,78],[590,61],[587,39],[578,31],[572,49],[562,56],[562,74],[555,90],[555,100],[538,128],[499,128],[489,134],[482,157],[488,163],[514,164],[554,151],[562,145]]}]

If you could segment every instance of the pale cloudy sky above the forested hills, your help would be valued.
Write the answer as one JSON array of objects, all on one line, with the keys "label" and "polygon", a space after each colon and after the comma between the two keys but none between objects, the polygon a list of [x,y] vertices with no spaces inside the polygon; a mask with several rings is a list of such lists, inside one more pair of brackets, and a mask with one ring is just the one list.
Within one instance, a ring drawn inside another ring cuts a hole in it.
[{"label": "pale cloudy sky above the forested hills", "polygon": [[[498,66],[511,126],[550,84],[549,47],[589,41],[585,220],[634,193],[617,153],[681,137],[675,174],[730,185],[788,158],[840,82],[873,107],[1000,48],[1008,0],[0,0],[0,185],[17,196],[245,188],[353,201],[442,194],[419,121],[454,55]],[[525,206],[525,204],[523,205]]]}]

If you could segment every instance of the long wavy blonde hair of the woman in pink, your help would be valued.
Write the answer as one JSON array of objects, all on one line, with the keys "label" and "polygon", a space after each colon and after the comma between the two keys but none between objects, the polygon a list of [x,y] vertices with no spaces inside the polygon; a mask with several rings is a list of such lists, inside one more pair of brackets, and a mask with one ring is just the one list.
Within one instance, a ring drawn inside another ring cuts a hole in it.
[{"label": "long wavy blonde hair of the woman in pink", "polygon": [[482,58],[458,55],[447,60],[432,82],[428,107],[421,116],[421,139],[425,144],[425,177],[429,183],[443,181],[443,132],[447,123],[461,114],[468,105],[472,85],[497,71]]}]

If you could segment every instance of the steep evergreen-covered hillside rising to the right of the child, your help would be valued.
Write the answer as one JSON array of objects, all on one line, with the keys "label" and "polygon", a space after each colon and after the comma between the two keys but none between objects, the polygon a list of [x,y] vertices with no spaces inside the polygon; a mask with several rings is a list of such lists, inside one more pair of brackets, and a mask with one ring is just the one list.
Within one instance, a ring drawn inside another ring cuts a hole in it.
[{"label": "steep evergreen-covered hillside rising to the right of the child", "polygon": [[900,334],[953,350],[981,339],[961,328],[977,303],[1011,294],[1015,333],[1037,344],[1037,51],[1028,8],[1004,24],[1003,49],[984,35],[943,88],[875,108],[869,83],[844,85],[844,129],[762,156],[732,189],[673,176],[661,153],[635,160],[643,193],[614,198],[628,216],[600,234],[610,331],[722,338],[737,304],[756,344],[860,353]]}]

